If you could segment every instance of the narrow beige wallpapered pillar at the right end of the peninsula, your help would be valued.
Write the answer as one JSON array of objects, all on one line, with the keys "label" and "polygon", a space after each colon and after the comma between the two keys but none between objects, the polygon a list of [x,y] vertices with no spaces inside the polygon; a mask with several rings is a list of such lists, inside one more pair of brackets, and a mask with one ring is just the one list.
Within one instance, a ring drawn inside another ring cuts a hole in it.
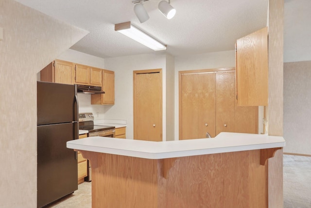
[{"label": "narrow beige wallpapered pillar at the right end of the peninsula", "polygon": [[[283,17],[284,0],[269,0],[268,134],[283,135]],[[283,150],[268,160],[268,207],[283,207]]]}]

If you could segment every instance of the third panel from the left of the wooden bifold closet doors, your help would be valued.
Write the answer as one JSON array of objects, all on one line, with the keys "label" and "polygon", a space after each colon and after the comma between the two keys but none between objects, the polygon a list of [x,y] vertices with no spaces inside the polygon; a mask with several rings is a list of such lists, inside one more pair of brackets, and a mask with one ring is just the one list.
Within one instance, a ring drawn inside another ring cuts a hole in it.
[{"label": "third panel from the left of the wooden bifold closet doors", "polygon": [[234,71],[216,73],[216,135],[234,132]]}]

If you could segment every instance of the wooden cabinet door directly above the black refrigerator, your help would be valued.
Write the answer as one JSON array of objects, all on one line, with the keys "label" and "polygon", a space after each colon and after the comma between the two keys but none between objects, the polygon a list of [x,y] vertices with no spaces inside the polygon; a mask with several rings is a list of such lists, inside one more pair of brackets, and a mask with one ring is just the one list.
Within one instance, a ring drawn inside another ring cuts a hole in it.
[{"label": "wooden cabinet door directly above the black refrigerator", "polygon": [[54,82],[74,84],[74,64],[68,61],[54,61]]}]

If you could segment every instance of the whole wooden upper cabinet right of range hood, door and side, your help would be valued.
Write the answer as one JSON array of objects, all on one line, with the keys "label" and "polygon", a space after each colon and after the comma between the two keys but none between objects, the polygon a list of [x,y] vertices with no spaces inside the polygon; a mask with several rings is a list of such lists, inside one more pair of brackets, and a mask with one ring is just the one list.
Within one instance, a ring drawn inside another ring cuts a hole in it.
[{"label": "whole wooden upper cabinet right of range hood, door and side", "polygon": [[103,85],[102,95],[91,95],[91,104],[93,105],[113,105],[115,103],[115,72],[102,70]]}]

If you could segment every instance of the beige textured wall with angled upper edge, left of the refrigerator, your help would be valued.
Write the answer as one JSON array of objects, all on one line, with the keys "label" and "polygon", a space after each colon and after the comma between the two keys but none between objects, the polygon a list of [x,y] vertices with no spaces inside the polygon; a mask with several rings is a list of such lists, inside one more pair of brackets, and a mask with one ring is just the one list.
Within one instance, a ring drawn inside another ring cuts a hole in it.
[{"label": "beige textured wall with angled upper edge, left of the refrigerator", "polygon": [[34,208],[36,74],[87,32],[13,0],[0,14],[0,207]]}]

